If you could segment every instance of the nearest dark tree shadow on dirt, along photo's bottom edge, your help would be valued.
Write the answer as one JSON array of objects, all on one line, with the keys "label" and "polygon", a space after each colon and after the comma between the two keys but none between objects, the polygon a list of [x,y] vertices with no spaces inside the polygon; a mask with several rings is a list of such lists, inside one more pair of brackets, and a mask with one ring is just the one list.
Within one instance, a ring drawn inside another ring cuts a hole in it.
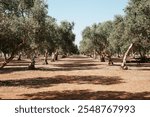
[{"label": "nearest dark tree shadow on dirt, along photo's bottom edge", "polygon": [[65,90],[23,94],[23,99],[40,100],[149,100],[150,92]]}]

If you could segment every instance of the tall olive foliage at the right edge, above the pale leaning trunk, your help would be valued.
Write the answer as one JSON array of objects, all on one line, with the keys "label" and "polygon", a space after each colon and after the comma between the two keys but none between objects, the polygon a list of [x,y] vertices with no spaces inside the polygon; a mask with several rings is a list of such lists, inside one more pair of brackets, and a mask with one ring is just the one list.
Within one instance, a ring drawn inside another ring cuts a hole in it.
[{"label": "tall olive foliage at the right edge, above the pale leaning trunk", "polygon": [[150,1],[130,0],[125,12],[125,37],[144,56],[150,50]]}]

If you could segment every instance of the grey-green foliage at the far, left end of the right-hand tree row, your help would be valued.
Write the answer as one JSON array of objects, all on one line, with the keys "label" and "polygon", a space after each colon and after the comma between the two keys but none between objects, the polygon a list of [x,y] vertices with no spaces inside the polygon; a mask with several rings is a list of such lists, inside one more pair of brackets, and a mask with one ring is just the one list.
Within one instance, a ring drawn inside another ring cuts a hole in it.
[{"label": "grey-green foliage at the far, left end of the right-hand tree row", "polygon": [[108,37],[111,30],[111,21],[86,27],[82,32],[83,40],[80,42],[80,52],[90,54],[96,51],[98,54],[101,54],[109,44]]}]

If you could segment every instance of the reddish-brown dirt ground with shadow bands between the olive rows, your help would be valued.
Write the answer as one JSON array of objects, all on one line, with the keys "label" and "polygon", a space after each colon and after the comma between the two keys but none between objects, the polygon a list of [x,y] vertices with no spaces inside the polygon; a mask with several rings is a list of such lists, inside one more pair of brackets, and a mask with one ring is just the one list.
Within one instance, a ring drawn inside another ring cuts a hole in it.
[{"label": "reddish-brown dirt ground with shadow bands between the olive rows", "polygon": [[150,63],[107,62],[72,56],[27,70],[29,60],[14,60],[0,71],[0,99],[150,99]]}]

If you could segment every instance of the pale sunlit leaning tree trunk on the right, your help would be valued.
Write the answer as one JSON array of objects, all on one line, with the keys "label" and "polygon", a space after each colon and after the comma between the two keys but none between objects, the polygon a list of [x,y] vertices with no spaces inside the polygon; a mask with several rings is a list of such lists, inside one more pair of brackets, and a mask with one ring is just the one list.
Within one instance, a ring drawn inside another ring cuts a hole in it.
[{"label": "pale sunlit leaning tree trunk on the right", "polygon": [[123,62],[121,64],[121,68],[124,69],[124,70],[128,69],[128,67],[126,66],[126,60],[127,60],[127,56],[129,55],[129,52],[132,49],[132,47],[133,47],[133,43],[130,44],[129,48],[127,49],[127,51],[124,54]]}]

